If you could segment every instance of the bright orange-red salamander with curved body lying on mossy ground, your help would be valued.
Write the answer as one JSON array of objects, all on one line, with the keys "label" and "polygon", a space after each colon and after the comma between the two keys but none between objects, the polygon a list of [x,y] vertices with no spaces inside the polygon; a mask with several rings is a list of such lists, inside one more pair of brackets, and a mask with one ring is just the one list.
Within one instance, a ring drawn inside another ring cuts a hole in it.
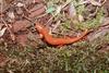
[{"label": "bright orange-red salamander with curved body lying on mossy ground", "polygon": [[49,44],[53,46],[62,46],[68,44],[73,44],[82,39],[88,34],[88,31],[86,29],[81,36],[78,37],[65,37],[65,38],[57,38],[52,37],[52,35],[49,34],[49,31],[44,25],[36,23],[36,29],[39,32],[39,34],[43,35],[44,39]]}]

